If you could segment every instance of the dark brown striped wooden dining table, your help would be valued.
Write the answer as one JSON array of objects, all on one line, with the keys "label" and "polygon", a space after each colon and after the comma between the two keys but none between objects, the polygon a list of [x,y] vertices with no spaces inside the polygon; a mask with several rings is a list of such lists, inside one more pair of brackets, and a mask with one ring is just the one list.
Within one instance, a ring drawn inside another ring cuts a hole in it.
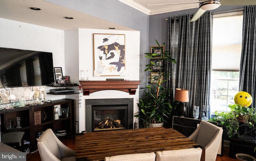
[{"label": "dark brown striped wooden dining table", "polygon": [[175,129],[164,127],[108,130],[76,135],[76,161],[104,161],[105,157],[134,153],[202,148]]}]

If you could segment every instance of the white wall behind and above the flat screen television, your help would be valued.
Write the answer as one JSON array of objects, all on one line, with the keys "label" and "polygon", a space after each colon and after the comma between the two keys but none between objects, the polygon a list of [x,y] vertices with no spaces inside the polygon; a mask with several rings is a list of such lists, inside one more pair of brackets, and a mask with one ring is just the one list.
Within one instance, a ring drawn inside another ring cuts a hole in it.
[{"label": "white wall behind and above the flat screen television", "polygon": [[[64,30],[57,30],[0,18],[0,47],[40,52],[52,52],[53,66],[62,67],[65,74]],[[46,87],[46,92],[50,88]],[[56,100],[64,95],[46,95],[46,99]]]}]

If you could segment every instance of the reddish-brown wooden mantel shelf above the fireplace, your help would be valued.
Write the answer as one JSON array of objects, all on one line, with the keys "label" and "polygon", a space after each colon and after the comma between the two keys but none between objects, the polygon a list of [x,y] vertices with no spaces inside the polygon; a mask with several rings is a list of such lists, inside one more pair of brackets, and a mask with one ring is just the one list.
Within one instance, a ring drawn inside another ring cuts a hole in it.
[{"label": "reddish-brown wooden mantel shelf above the fireplace", "polygon": [[141,81],[80,81],[84,95],[103,90],[118,90],[134,95]]}]

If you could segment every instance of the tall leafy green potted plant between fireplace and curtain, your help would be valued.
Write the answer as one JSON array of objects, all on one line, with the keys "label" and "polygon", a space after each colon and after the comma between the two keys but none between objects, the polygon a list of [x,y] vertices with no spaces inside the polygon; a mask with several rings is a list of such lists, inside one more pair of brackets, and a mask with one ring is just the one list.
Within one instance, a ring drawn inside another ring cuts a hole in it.
[{"label": "tall leafy green potted plant between fireplace and curtain", "polygon": [[172,88],[166,87],[165,84],[167,80],[172,79],[167,64],[176,63],[176,60],[171,58],[169,51],[163,51],[157,40],[155,41],[160,51],[145,53],[146,58],[150,59],[150,64],[146,65],[144,71],[151,73],[148,77],[148,85],[144,87],[144,97],[137,103],[139,111],[134,115],[146,127],[152,126],[152,123],[167,122],[173,103]]}]

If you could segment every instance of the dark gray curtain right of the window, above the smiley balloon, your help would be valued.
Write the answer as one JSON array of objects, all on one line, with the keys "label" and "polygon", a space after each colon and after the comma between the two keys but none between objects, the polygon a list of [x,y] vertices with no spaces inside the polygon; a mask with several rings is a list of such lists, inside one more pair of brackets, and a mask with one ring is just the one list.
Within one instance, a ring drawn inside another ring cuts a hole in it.
[{"label": "dark gray curtain right of the window, above the smiley balloon", "polygon": [[240,91],[252,95],[251,107],[256,107],[256,5],[245,6],[242,54],[240,62]]}]

